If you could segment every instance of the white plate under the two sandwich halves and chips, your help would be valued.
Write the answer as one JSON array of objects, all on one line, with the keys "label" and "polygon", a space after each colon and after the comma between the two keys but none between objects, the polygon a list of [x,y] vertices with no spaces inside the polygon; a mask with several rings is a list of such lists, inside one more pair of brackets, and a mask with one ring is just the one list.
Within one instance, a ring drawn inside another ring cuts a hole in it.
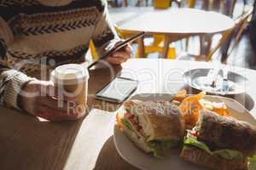
[{"label": "white plate under the two sandwich halves and chips", "polygon": [[[167,100],[172,99],[172,95],[140,94],[131,99]],[[223,101],[231,112],[231,116],[241,121],[250,122],[253,126],[256,126],[256,121],[253,116],[235,100],[216,96],[206,96],[205,99],[210,101]],[[181,160],[179,158],[181,149],[170,150],[163,160],[155,158],[152,154],[146,154],[142,150],[137,149],[118,127],[114,127],[113,139],[119,155],[122,156],[125,161],[131,163],[131,165],[143,170],[207,170],[207,168],[198,167]]]}]

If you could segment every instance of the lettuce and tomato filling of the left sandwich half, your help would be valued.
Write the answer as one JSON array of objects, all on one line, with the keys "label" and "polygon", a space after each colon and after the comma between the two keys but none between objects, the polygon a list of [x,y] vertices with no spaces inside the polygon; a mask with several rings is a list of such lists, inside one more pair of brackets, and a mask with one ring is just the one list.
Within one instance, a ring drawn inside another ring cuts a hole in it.
[{"label": "lettuce and tomato filling of the left sandwich half", "polygon": [[146,144],[146,147],[150,148],[150,151],[154,153],[155,157],[163,158],[165,150],[177,146],[178,144],[177,140],[149,139],[150,135],[143,130],[143,125],[139,121],[139,117],[131,114],[131,112],[125,112],[125,116],[121,119],[121,122],[125,127],[131,130],[132,133],[136,133],[137,140]]}]

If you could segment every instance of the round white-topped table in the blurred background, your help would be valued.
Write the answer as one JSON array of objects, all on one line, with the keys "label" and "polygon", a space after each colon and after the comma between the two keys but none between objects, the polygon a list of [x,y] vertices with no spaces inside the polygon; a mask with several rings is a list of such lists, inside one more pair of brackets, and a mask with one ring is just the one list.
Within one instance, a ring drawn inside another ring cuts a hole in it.
[{"label": "round white-topped table in the blurred background", "polygon": [[[120,23],[119,28],[130,33],[145,31],[150,35],[164,35],[163,58],[166,58],[171,42],[184,37],[229,31],[235,24],[232,19],[223,14],[195,8],[149,9],[143,14],[138,13],[132,19]],[[115,14],[111,13],[111,18],[115,20],[114,18],[122,14],[123,10],[123,8],[115,9]],[[139,43],[139,49],[140,56],[144,56],[143,40]]]}]

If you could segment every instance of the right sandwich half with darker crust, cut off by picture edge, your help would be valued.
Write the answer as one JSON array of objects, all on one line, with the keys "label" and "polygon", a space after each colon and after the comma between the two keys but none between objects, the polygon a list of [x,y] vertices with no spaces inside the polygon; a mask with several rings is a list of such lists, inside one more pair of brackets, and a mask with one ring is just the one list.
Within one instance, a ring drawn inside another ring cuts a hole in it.
[{"label": "right sandwich half with darker crust, cut off by picture edge", "polygon": [[247,157],[256,153],[256,129],[247,122],[201,111],[183,143],[184,161],[216,170],[247,170]]}]

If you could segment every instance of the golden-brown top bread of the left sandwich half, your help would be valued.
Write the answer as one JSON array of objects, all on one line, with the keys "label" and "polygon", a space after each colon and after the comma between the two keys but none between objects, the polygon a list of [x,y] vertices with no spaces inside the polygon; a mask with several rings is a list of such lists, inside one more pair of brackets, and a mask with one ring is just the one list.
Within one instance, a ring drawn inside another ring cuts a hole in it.
[{"label": "golden-brown top bread of the left sandwich half", "polygon": [[[151,140],[182,140],[185,122],[177,107],[171,102],[143,101],[130,103],[129,109],[137,115],[144,133]],[[128,105],[126,104],[126,105]]]}]

